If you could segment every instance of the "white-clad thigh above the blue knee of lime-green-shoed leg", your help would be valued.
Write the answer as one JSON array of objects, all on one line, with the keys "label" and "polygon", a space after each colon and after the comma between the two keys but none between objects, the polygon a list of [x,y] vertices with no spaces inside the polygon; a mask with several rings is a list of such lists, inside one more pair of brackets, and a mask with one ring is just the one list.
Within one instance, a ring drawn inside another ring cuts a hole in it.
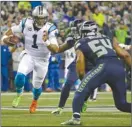
[{"label": "white-clad thigh above the blue knee of lime-green-shoed leg", "polygon": [[34,68],[33,58],[30,55],[25,54],[19,63],[17,72],[27,75],[33,70],[33,68]]}]

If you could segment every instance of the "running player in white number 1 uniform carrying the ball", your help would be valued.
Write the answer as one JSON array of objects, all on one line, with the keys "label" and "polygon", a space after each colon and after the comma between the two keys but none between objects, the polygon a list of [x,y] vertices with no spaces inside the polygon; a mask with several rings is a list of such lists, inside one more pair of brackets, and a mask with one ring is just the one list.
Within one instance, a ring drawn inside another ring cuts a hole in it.
[{"label": "running player in white number 1 uniform carrying the ball", "polygon": [[17,96],[12,106],[17,107],[21,99],[25,78],[33,71],[33,101],[30,113],[35,112],[37,100],[42,92],[42,83],[46,76],[50,52],[58,52],[55,25],[48,22],[48,12],[42,6],[37,6],[32,12],[32,18],[22,19],[19,25],[11,27],[2,37],[3,43],[10,44],[11,37],[22,33],[25,50],[20,55],[21,61],[15,77]]}]

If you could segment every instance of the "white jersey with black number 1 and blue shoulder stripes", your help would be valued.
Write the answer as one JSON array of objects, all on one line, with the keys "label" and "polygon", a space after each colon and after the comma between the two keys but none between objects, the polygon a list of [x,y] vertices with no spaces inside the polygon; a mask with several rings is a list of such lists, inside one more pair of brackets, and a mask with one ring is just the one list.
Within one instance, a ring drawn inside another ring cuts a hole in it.
[{"label": "white jersey with black number 1 and blue shoulder stripes", "polygon": [[52,44],[58,45],[56,39],[58,30],[55,25],[47,22],[41,29],[37,31],[34,30],[33,23],[34,20],[32,18],[23,19],[19,25],[13,26],[11,28],[12,32],[15,35],[18,35],[18,33],[23,33],[26,53],[33,57],[49,59],[50,51],[43,42],[43,33],[44,31],[48,31],[49,41]]}]

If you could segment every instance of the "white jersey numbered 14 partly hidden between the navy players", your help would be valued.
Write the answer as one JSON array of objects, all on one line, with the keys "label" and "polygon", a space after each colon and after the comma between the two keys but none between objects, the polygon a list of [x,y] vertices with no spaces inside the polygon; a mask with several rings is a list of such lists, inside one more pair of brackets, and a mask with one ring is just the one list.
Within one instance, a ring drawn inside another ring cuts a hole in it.
[{"label": "white jersey numbered 14 partly hidden between the navy players", "polygon": [[66,50],[64,53],[65,53],[65,68],[67,68],[75,60],[76,53],[74,47],[70,48],[69,50]]}]

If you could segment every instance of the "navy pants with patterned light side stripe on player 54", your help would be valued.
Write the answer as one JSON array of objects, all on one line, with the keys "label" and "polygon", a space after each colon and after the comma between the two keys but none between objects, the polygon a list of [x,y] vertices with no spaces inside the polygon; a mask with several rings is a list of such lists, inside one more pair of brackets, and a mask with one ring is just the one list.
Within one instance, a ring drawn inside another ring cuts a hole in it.
[{"label": "navy pants with patterned light side stripe on player 54", "polygon": [[83,78],[79,89],[73,99],[73,116],[80,117],[79,113],[86,95],[108,83],[113,92],[113,98],[117,109],[123,112],[131,112],[131,103],[126,102],[125,71],[120,60],[111,58],[100,61],[89,74]]}]

